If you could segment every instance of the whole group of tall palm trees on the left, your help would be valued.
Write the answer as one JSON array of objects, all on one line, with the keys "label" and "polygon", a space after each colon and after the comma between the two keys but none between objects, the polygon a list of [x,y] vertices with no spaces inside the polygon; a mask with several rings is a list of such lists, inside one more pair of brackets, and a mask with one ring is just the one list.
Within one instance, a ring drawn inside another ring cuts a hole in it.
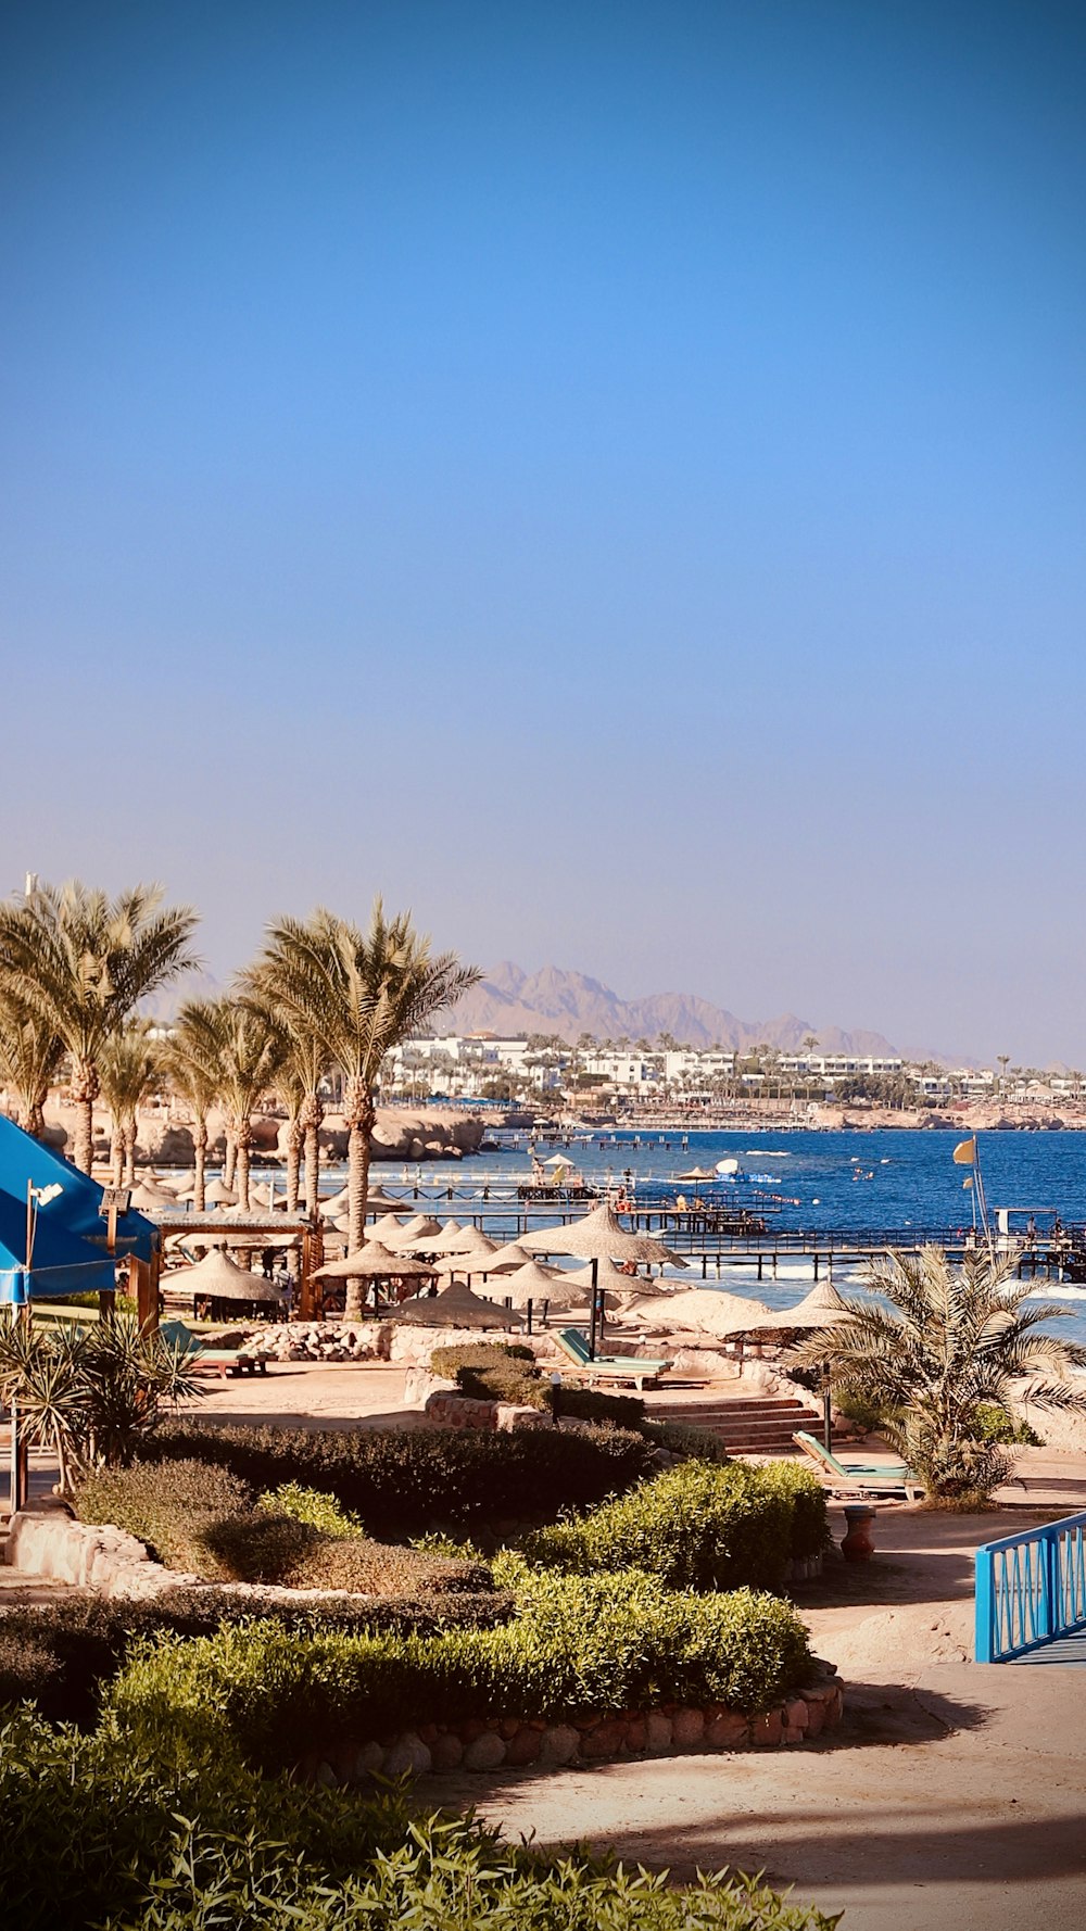
[{"label": "whole group of tall palm trees on the left", "polygon": [[[93,1108],[112,1116],[118,1182],[133,1178],[135,1118],[170,1085],[193,1116],[195,1205],[203,1209],[209,1114],[226,1116],[226,1180],[249,1205],[253,1114],[274,1095],[288,1118],[288,1205],[317,1207],[327,1079],[338,1074],[348,1128],[348,1240],[361,1244],[375,1093],[386,1054],[477,983],[433,952],[408,911],[375,902],[363,929],[332,911],[269,925],[259,958],[222,998],[187,998],[168,1037],[139,1012],[197,960],[197,917],[158,886],[108,898],[77,881],[33,884],[0,904],[0,1083],[39,1135],[50,1085],[75,1105],[73,1161],[93,1159]],[[350,1296],[348,1296],[350,1305]]]}]

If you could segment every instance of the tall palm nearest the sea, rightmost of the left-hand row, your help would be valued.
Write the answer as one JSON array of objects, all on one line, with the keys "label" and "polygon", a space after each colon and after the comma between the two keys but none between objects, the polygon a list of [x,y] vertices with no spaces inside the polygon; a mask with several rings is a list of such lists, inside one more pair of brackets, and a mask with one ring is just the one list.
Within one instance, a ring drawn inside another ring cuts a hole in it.
[{"label": "tall palm nearest the sea, rightmost of the left-hand row", "polygon": [[[332,911],[280,919],[269,927],[267,985],[288,1027],[309,1027],[329,1064],[344,1076],[348,1126],[348,1242],[359,1247],[369,1197],[369,1157],[377,1122],[375,1087],[385,1056],[435,1012],[450,1006],[483,977],[454,952],[431,952],[410,911],[386,919],[377,898],[363,933]],[[348,1280],[346,1313],[359,1319],[363,1282]]]}]

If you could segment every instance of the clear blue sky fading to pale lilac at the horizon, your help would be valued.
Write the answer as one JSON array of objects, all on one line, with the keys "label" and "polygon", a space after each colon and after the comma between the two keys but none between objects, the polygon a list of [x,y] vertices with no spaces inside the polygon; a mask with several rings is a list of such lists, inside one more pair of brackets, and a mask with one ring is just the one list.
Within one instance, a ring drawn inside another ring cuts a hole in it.
[{"label": "clear blue sky fading to pale lilac at the horizon", "polygon": [[1045,0],[8,6],[0,888],[1084,1064],[1084,98]]}]

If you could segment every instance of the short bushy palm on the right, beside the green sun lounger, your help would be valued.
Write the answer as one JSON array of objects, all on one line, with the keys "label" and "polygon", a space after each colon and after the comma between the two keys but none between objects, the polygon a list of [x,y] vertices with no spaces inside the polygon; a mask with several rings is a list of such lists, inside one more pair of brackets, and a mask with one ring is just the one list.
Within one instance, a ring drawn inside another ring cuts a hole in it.
[{"label": "short bushy palm on the right, beside the green sun lounger", "polygon": [[1015,1383],[1030,1383],[1038,1408],[1086,1412],[1086,1394],[1069,1379],[1086,1367],[1086,1348],[1045,1332],[1069,1309],[1026,1307],[1032,1282],[1011,1271],[1011,1259],[987,1255],[955,1269],[941,1247],[889,1255],[870,1273],[889,1305],[848,1301],[844,1319],[794,1352],[798,1365],[823,1367],[831,1344],[831,1386],[883,1410],[879,1433],[935,1502],[989,1495],[1007,1479],[1009,1458],[978,1439],[978,1410],[1011,1412]]}]

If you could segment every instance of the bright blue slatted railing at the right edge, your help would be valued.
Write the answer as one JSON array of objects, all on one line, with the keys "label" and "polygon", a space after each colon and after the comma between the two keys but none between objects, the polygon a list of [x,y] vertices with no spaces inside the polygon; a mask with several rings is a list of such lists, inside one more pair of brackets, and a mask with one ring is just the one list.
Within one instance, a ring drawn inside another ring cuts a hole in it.
[{"label": "bright blue slatted railing at the right edge", "polygon": [[976,1661],[1011,1663],[1086,1630],[1086,1516],[976,1551]]}]

